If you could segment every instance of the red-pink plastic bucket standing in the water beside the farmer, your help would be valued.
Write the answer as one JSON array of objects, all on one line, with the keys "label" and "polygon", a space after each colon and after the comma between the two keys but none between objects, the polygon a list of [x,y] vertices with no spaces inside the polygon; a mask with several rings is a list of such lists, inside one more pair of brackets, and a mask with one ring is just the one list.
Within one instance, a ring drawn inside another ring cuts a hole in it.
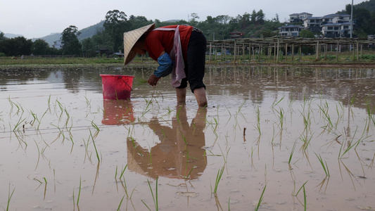
[{"label": "red-pink plastic bucket standing in the water beside the farmer", "polygon": [[132,75],[101,75],[104,99],[129,99],[133,85]]}]

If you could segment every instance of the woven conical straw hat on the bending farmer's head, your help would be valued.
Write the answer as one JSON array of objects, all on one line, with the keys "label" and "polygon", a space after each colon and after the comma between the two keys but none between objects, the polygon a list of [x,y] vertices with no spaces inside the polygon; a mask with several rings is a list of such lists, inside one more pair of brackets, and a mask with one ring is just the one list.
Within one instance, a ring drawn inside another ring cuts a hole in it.
[{"label": "woven conical straw hat on the bending farmer's head", "polygon": [[136,41],[142,37],[142,35],[155,29],[155,23],[140,27],[139,29],[132,30],[124,33],[124,60],[125,65],[130,63],[136,56],[136,53],[132,51],[132,48]]}]

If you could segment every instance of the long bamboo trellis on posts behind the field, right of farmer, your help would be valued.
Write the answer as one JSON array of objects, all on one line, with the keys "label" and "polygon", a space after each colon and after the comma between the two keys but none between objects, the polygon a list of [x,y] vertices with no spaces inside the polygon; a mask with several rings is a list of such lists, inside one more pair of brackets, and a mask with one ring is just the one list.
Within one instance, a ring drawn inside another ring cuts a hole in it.
[{"label": "long bamboo trellis on posts behind the field, right of farmer", "polygon": [[[316,58],[319,59],[323,51],[324,58],[327,57],[328,49],[336,51],[336,61],[338,60],[338,53],[341,52],[343,46],[349,46],[348,49],[352,51],[353,60],[359,60],[362,56],[363,45],[374,44],[375,40],[367,38],[302,38],[302,37],[268,37],[268,38],[241,38],[241,39],[224,39],[224,40],[208,40],[208,48],[210,50],[209,60],[212,60],[212,49],[221,49],[221,58],[226,56],[227,50],[233,52],[233,62],[239,60],[240,50],[242,50],[242,59],[255,59],[255,53],[260,59],[262,52],[265,53],[268,59],[271,59],[272,53],[274,61],[279,62],[280,51],[284,48],[285,58],[288,60],[288,49],[291,51],[291,60],[294,60],[296,54],[302,55],[301,48],[303,46],[313,46]],[[295,49],[298,47],[298,52]],[[248,56],[246,55],[248,50]],[[253,55],[252,55],[253,53]],[[217,53],[215,52],[215,59]]]}]

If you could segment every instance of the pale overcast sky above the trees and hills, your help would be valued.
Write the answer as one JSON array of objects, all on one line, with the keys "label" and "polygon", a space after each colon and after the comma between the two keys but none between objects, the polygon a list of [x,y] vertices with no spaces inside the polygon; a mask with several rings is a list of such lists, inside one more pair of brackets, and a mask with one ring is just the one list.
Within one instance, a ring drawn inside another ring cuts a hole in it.
[{"label": "pale overcast sky above the trees and hills", "polygon": [[[359,4],[364,0],[354,0]],[[262,9],[271,20],[276,13],[279,20],[288,20],[292,13],[312,13],[314,16],[336,13],[351,4],[351,0],[0,0],[0,31],[21,34],[27,39],[51,33],[61,33],[70,25],[78,30],[95,25],[115,9],[127,16],[142,15],[148,20],[187,20],[197,13],[198,21],[208,15],[236,17]]]}]

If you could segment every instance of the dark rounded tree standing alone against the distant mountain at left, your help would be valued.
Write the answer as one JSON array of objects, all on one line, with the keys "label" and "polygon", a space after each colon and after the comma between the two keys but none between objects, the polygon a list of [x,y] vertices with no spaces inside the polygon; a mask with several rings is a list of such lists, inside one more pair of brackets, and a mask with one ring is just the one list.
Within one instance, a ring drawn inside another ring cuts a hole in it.
[{"label": "dark rounded tree standing alone against the distant mountain at left", "polygon": [[61,44],[63,45],[63,55],[79,56],[81,54],[81,44],[78,40],[78,28],[70,25],[61,33]]}]

